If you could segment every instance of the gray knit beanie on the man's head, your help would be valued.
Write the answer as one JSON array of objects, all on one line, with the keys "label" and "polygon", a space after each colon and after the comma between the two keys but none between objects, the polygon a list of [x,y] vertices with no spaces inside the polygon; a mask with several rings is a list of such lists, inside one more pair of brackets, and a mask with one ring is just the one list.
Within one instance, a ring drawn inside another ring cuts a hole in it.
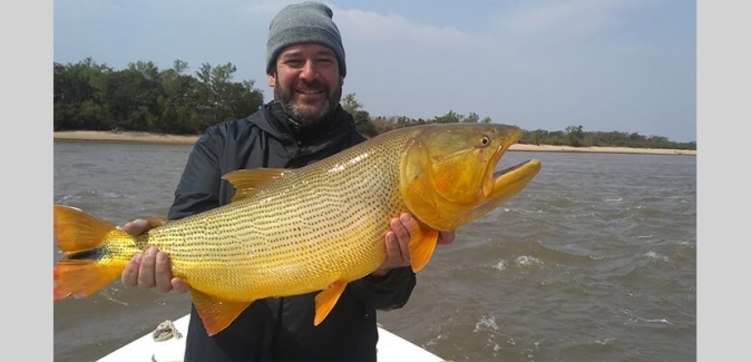
[{"label": "gray knit beanie on the man's head", "polygon": [[271,74],[282,49],[313,42],[331,48],[339,60],[339,72],[347,76],[344,46],[332,17],[331,8],[320,2],[294,3],[282,9],[269,26],[266,74]]}]

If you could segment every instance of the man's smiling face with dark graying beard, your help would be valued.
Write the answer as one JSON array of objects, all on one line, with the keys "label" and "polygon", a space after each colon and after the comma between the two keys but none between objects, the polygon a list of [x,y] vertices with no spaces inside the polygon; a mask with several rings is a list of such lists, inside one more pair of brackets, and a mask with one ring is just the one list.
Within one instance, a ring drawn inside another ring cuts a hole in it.
[{"label": "man's smiling face with dark graying beard", "polygon": [[334,52],[320,45],[285,48],[276,57],[276,71],[269,86],[287,116],[313,125],[331,116],[341,100],[344,78],[339,75]]}]

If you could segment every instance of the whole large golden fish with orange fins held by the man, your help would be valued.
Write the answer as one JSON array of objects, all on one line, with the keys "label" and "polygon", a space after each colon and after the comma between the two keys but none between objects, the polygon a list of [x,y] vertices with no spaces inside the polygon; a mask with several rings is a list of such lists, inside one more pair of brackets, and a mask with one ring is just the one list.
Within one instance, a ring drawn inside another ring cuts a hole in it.
[{"label": "whole large golden fish with orange fins held by the man", "polygon": [[453,231],[517,195],[539,160],[495,173],[521,130],[496,124],[399,128],[299,169],[237,170],[228,205],[168,221],[139,236],[80,209],[55,205],[55,238],[66,258],[53,271],[55,301],[90,295],[149,246],[192,287],[209,335],[253,301],[321,291],[321,323],[349,282],[386,260],[389,219],[410,213],[419,272],[438,231]]}]

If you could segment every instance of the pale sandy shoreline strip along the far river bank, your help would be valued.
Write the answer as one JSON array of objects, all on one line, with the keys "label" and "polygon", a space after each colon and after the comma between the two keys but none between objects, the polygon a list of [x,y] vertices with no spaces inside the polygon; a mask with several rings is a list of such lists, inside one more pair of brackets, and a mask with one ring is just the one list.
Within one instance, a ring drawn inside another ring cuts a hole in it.
[{"label": "pale sandy shoreline strip along the far river bank", "polygon": [[[71,130],[53,133],[55,141],[109,141],[109,143],[139,143],[166,145],[193,145],[199,136],[162,135],[135,131],[97,131]],[[510,150],[555,151],[555,153],[603,153],[603,154],[642,154],[642,155],[684,155],[696,156],[695,150],[689,149],[659,149],[659,148],[627,148],[627,147],[570,147],[550,145],[514,145]]]}]

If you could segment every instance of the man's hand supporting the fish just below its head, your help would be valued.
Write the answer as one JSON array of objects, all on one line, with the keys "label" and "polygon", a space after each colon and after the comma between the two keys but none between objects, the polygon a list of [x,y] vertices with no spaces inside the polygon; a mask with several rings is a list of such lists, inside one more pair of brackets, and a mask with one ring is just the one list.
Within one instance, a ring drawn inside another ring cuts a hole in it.
[{"label": "man's hand supporting the fish just below its head", "polygon": [[[409,214],[391,219],[391,231],[386,233],[386,261],[371,275],[382,277],[393,268],[410,266],[409,239],[411,237],[414,219]],[[453,243],[455,232],[438,233],[438,244],[448,245]]]}]

